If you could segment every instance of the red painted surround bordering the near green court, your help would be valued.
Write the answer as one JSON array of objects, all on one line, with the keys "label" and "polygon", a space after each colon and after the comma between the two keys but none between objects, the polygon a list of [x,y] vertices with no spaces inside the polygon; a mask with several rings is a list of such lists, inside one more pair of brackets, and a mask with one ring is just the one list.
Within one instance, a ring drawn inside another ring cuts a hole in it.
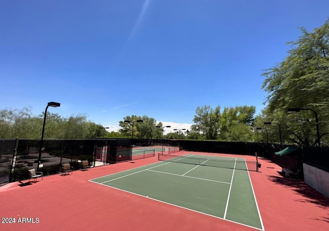
[{"label": "red painted surround bordering the near green court", "polygon": [[[188,153],[193,152],[180,154]],[[252,156],[245,158],[254,161]],[[329,230],[328,198],[303,182],[282,177],[281,168],[267,159],[259,161],[260,172],[249,174],[266,231]],[[154,162],[157,156],[4,185],[1,222],[15,218],[15,223],[0,223],[0,230],[258,230],[88,181]]]}]

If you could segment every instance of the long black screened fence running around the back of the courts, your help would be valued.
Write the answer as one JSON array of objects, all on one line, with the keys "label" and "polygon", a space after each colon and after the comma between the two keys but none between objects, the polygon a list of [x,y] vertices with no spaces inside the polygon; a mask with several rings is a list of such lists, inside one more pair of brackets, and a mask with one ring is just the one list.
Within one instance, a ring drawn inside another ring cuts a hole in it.
[{"label": "long black screened fence running around the back of the courts", "polygon": [[291,145],[245,143],[228,141],[201,141],[177,139],[70,139],[43,140],[40,148],[37,139],[0,140],[0,185],[28,179],[28,169],[40,169],[44,175],[56,174],[63,163],[70,163],[74,170],[87,160],[92,167],[114,164],[154,156],[154,152],[133,157],[134,146],[169,146],[180,150],[232,153],[263,156],[283,168],[298,169],[302,163],[329,171],[329,148],[303,147],[295,157],[278,156],[275,152]]}]

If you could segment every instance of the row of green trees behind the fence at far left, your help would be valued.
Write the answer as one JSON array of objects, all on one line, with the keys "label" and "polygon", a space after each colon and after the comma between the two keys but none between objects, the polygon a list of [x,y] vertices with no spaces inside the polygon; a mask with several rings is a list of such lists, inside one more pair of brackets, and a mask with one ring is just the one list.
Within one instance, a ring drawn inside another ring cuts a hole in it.
[{"label": "row of green trees behind the fence at far left", "polygon": [[[22,110],[1,110],[0,138],[40,139],[43,120],[44,112],[34,116],[28,108]],[[63,118],[57,113],[47,112],[44,138],[89,138],[92,130],[94,130],[92,137],[97,137],[98,135],[96,133],[99,127],[101,127],[101,125],[96,125],[94,122],[87,121],[85,115],[72,115],[69,118]]]}]

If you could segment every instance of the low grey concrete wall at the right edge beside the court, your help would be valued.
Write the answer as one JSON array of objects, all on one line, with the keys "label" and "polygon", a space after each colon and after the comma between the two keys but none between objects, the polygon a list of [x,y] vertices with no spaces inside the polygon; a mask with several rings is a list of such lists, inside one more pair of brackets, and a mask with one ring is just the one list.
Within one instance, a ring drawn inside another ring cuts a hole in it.
[{"label": "low grey concrete wall at the right edge beside the court", "polygon": [[329,172],[303,163],[304,181],[329,198]]}]

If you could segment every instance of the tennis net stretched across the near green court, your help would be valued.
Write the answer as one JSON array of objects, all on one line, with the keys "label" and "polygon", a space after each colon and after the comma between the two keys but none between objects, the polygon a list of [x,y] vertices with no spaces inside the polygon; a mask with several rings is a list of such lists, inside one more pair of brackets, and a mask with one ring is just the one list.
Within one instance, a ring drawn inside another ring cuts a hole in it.
[{"label": "tennis net stretched across the near green court", "polygon": [[175,163],[204,165],[210,167],[241,169],[249,171],[258,171],[258,163],[255,161],[237,161],[224,158],[208,158],[195,156],[179,156],[172,154],[158,154],[159,161],[169,161]]}]

